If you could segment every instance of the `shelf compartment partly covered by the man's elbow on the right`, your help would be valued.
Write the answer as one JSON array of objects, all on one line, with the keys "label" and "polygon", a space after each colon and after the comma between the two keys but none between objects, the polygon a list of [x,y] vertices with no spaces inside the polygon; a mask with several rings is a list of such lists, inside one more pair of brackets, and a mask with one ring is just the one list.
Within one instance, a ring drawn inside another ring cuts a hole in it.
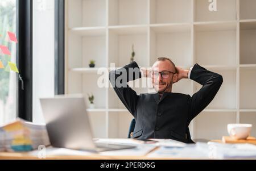
[{"label": "shelf compartment partly covered by the man's elbow on the right", "polygon": [[[221,74],[223,83],[214,97],[213,101],[207,106],[206,109],[237,109],[236,98],[236,70],[210,70]],[[196,83],[196,90],[200,90],[202,85]]]}]

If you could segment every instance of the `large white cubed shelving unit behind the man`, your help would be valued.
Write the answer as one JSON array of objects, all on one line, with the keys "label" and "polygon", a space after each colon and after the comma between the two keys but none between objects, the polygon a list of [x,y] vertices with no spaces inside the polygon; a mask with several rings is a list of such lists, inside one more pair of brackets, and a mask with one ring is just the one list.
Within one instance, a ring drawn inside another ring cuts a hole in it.
[{"label": "large white cubed shelving unit behind the man", "polygon": [[[256,1],[217,0],[212,12],[208,6],[208,0],[66,1],[65,93],[94,94],[96,109],[88,112],[95,137],[127,137],[132,116],[112,88],[97,86],[97,70],[128,64],[132,44],[141,66],[167,56],[178,66],[198,62],[224,77],[189,126],[193,139],[220,139],[228,123],[253,123],[256,135]],[[96,68],[88,66],[92,59]],[[181,80],[173,91],[192,95],[200,87]]]}]

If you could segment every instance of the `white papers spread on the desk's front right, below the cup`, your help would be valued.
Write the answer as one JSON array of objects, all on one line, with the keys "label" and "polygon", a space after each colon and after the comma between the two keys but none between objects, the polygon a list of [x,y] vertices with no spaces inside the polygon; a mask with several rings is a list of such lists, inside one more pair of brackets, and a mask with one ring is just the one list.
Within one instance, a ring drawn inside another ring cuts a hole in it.
[{"label": "white papers spread on the desk's front right, below the cup", "polygon": [[256,159],[256,145],[196,143],[185,147],[160,147],[148,157],[170,159]]}]

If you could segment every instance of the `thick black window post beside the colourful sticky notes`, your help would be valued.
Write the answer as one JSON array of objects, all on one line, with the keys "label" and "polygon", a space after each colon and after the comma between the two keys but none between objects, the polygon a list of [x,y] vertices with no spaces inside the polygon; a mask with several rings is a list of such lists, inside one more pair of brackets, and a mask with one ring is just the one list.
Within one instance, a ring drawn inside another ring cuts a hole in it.
[{"label": "thick black window post beside the colourful sticky notes", "polygon": [[[32,122],[32,90],[33,90],[33,73],[32,73],[32,20],[33,20],[33,3],[32,0],[16,0],[16,35],[19,43],[16,50],[16,63],[19,68],[19,74],[16,76],[16,94],[17,107],[16,114],[19,118]],[[22,78],[24,89],[22,89]]]}]

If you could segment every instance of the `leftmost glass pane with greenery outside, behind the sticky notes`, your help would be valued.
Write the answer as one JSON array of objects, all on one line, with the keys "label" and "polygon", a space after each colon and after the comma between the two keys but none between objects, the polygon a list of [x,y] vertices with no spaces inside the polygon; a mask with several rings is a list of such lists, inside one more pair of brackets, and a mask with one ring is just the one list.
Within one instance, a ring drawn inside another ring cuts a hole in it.
[{"label": "leftmost glass pane with greenery outside, behind the sticky notes", "polygon": [[0,60],[5,68],[0,69],[0,124],[16,118],[16,77],[10,72],[8,62],[16,63],[16,44],[7,41],[7,31],[16,32],[16,1],[0,1],[0,45],[5,45],[11,55],[0,54]]}]

